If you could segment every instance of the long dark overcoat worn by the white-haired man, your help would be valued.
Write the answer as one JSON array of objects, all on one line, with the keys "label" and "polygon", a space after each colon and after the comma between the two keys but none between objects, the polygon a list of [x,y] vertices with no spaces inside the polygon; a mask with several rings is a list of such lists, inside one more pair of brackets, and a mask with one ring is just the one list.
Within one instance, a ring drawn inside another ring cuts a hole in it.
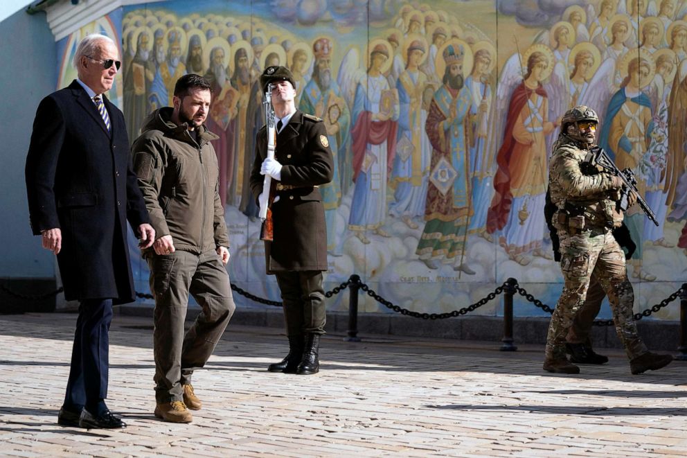
[{"label": "long dark overcoat worn by the white-haired man", "polygon": [[31,229],[62,230],[57,255],[64,296],[134,300],[127,220],[149,222],[129,155],[122,112],[103,97],[107,131],[96,105],[73,81],[38,106],[26,157]]}]

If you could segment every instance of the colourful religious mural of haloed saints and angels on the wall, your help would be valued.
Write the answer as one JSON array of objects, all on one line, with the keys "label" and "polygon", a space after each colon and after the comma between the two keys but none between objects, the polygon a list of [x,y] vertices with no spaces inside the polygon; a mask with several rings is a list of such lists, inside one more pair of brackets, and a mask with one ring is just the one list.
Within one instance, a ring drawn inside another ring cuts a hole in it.
[{"label": "colourful religious mural of haloed saints and angels on the wall", "polygon": [[[562,279],[544,221],[548,157],[579,104],[596,109],[599,143],[634,170],[660,222],[627,215],[635,309],[685,279],[687,1],[175,0],[121,17],[132,139],[171,105],[179,76],[213,85],[230,276],[253,294],[278,298],[247,186],[265,122],[256,82],[273,64],[294,73],[297,106],[323,119],[334,153],[326,289],[356,273],[395,304],[445,312],[512,276],[553,306]],[[146,278],[142,265],[137,285]],[[347,297],[328,308],[346,310]],[[522,303],[517,314],[542,312]]]}]

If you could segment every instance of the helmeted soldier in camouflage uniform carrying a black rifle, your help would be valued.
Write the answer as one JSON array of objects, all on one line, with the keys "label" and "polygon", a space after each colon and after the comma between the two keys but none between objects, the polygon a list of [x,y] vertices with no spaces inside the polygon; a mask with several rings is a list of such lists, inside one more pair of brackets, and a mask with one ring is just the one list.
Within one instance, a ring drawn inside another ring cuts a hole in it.
[{"label": "helmeted soldier in camouflage uniform carrying a black rifle", "polygon": [[[560,136],[553,146],[548,192],[556,207],[553,225],[560,237],[563,292],[551,317],[546,339],[544,369],[579,373],[565,355],[565,338],[587,297],[592,274],[608,295],[616,332],[630,358],[632,373],[666,366],[671,355],[650,353],[637,334],[632,315],[634,291],[627,279],[625,253],[613,236],[623,213],[616,201],[623,186],[620,177],[589,164],[589,149],[596,141],[598,116],[578,106],[562,118]],[[636,200],[630,196],[631,203]]]}]

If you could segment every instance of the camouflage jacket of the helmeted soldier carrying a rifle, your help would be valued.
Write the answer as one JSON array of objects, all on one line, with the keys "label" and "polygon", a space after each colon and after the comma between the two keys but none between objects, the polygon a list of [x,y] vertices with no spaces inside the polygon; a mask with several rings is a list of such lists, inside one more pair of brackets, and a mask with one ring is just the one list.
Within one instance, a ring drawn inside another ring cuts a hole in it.
[{"label": "camouflage jacket of the helmeted soldier carrying a rifle", "polygon": [[[591,166],[581,143],[561,134],[553,146],[548,170],[548,192],[557,211],[553,224],[568,229],[568,217],[584,216],[584,227],[620,226],[623,215],[615,211],[618,190],[611,175]],[[562,216],[562,218],[561,218]]]}]

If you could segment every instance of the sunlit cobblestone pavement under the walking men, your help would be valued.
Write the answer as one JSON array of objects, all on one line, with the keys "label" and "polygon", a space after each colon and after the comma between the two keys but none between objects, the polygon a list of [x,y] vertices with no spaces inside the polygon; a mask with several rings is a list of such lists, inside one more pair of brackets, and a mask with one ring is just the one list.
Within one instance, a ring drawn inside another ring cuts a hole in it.
[{"label": "sunlit cobblestone pavement under the walking men", "polygon": [[194,376],[190,425],[155,419],[149,318],[116,316],[108,405],[125,430],[57,425],[75,315],[0,316],[0,455],[97,457],[684,457],[687,364],[630,374],[623,353],[579,376],[543,346],[328,335],[321,373],[269,373],[285,337],[229,325]]}]

